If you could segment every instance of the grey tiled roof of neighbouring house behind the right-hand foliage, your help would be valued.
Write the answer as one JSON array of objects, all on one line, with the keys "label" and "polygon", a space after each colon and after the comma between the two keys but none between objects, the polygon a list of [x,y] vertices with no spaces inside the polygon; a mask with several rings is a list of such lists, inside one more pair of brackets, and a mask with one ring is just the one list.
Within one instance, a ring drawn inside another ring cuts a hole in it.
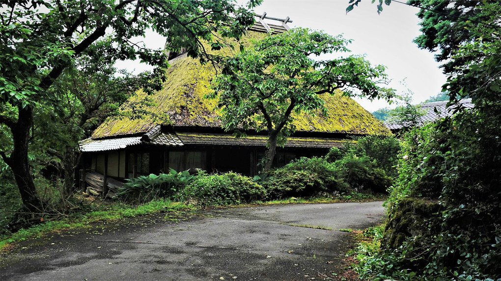
[{"label": "grey tiled roof of neighbouring house behind the right-hand foliage", "polygon": [[[427,102],[419,105],[420,111],[422,111],[423,115],[419,117],[417,120],[417,124],[420,126],[425,125],[427,123],[439,120],[446,116],[451,116],[454,111],[454,106],[449,108],[446,107],[448,100],[444,101],[433,101]],[[473,108],[474,104],[471,103],[471,98],[462,99],[459,103],[465,108]],[[435,110],[436,109],[436,110]],[[436,112],[435,112],[436,111]],[[385,122],[387,128],[389,128],[392,132],[396,133],[400,129],[404,127],[409,127],[409,122]]]}]

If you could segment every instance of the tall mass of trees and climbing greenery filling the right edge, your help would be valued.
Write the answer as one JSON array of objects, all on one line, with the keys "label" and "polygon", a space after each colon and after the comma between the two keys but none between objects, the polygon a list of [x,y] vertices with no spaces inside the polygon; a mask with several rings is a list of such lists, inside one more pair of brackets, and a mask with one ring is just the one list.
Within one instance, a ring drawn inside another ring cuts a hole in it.
[{"label": "tall mass of trees and climbing greenery filling the right edge", "polygon": [[[381,247],[365,255],[364,272],[375,279],[501,280],[501,6],[410,2],[422,7],[415,42],[440,50],[436,59],[450,75],[443,91],[456,114],[405,135]],[[463,108],[464,98],[475,107]]]}]

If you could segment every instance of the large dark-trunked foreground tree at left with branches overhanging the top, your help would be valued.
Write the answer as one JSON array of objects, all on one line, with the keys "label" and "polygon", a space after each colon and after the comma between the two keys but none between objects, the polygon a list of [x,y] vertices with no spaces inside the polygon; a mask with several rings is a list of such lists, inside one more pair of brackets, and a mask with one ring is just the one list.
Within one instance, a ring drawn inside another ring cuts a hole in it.
[{"label": "large dark-trunked foreground tree at left with branches overhanging the top", "polygon": [[[250,0],[254,7],[261,0]],[[61,73],[107,32],[106,46],[117,59],[141,60],[159,66],[159,86],[167,60],[163,50],[134,43],[147,28],[167,37],[171,50],[204,55],[201,39],[218,46],[219,36],[238,38],[254,14],[231,0],[6,0],[0,4],[0,123],[11,136],[0,147],[15,174],[24,205],[40,206],[30,174],[28,151],[34,110],[60,106],[49,88]],[[218,32],[216,34],[216,32]],[[44,107],[48,106],[48,107]]]}]

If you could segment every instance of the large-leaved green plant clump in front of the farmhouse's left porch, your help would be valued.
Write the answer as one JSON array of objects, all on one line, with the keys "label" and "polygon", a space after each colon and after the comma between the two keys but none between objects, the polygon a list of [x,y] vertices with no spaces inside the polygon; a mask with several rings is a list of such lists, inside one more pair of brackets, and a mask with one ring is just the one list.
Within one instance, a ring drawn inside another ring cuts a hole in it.
[{"label": "large-leaved green plant clump in front of the farmhouse's left porch", "polygon": [[170,197],[194,177],[195,175],[190,174],[188,170],[177,172],[172,168],[167,174],[141,175],[126,179],[127,182],[118,189],[116,196],[138,201],[151,200],[156,197]]}]

